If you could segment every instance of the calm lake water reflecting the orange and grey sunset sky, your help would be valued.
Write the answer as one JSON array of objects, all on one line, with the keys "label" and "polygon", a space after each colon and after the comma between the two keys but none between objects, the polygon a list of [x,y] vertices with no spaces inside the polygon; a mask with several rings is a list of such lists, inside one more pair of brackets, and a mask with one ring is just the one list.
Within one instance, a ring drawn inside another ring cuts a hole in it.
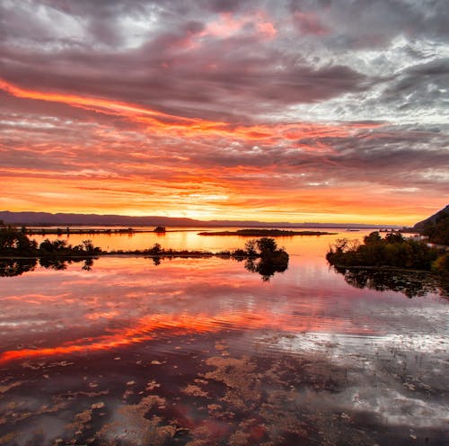
[{"label": "calm lake water reflecting the orange and grey sunset sky", "polygon": [[[0,444],[447,444],[449,300],[416,274],[331,270],[330,243],[364,235],[277,238],[290,263],[269,281],[133,256],[0,277]],[[246,240],[69,243],[86,238]]]}]

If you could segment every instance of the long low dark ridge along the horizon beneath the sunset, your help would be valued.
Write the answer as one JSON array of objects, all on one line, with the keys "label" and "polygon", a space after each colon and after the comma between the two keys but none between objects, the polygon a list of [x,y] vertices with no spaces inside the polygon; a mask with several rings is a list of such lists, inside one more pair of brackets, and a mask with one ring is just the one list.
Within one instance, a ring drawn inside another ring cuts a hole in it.
[{"label": "long low dark ridge along the horizon beneath the sunset", "polygon": [[[357,223],[264,223],[257,220],[208,220],[173,218],[161,216],[131,217],[126,215],[100,214],[51,214],[49,212],[0,211],[0,220],[17,226],[164,226],[164,227],[340,227],[340,228],[382,228],[385,225],[362,225]],[[388,225],[388,227],[392,227]]]}]

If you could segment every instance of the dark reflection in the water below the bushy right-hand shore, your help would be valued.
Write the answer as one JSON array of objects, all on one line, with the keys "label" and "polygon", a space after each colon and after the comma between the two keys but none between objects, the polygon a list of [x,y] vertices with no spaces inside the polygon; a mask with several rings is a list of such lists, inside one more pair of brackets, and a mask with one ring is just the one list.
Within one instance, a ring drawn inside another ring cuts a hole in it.
[{"label": "dark reflection in the water below the bushy right-hand shore", "polygon": [[345,281],[353,287],[371,290],[393,290],[405,294],[409,299],[426,296],[429,292],[449,296],[449,284],[432,277],[428,272],[388,271],[335,267]]}]

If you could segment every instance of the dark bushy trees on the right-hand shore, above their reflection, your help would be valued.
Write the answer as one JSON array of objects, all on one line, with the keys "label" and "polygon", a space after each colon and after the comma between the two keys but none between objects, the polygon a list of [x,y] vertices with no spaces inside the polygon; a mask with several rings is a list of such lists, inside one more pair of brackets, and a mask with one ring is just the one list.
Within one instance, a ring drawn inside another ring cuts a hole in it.
[{"label": "dark bushy trees on the right-hand shore, above their reflection", "polygon": [[364,243],[343,238],[330,246],[328,262],[336,266],[391,266],[449,273],[449,254],[426,243],[406,239],[399,233],[384,238],[378,232],[365,236]]}]

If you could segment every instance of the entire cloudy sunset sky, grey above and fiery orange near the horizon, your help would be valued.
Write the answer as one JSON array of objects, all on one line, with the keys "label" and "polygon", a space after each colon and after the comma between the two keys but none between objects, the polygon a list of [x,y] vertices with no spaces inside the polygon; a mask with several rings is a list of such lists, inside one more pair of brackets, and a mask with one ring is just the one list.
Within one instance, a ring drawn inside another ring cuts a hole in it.
[{"label": "entire cloudy sunset sky, grey above and fiery orange near the horizon", "polygon": [[0,210],[414,224],[447,0],[0,0]]}]

